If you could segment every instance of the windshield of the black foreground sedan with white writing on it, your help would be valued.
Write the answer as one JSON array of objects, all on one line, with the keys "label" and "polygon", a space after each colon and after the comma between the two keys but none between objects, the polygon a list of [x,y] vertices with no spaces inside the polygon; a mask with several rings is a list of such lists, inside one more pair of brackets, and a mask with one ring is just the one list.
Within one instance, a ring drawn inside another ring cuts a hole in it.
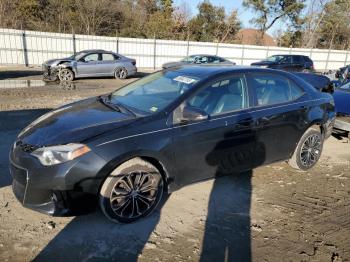
[{"label": "windshield of the black foreground sedan with white writing on it", "polygon": [[155,113],[189,90],[199,79],[181,72],[157,72],[135,81],[111,95],[112,104]]}]

